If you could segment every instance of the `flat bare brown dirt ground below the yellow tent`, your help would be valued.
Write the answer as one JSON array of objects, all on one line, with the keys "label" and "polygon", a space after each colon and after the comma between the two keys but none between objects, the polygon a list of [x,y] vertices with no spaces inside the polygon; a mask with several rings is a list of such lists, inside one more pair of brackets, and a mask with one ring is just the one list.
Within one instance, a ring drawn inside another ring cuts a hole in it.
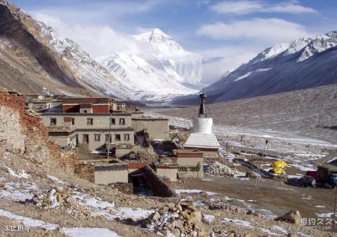
[{"label": "flat bare brown dirt ground below the yellow tent", "polygon": [[[260,208],[281,215],[299,210],[303,217],[317,217],[316,213],[333,212],[335,189],[303,188],[283,184],[278,180],[239,180],[230,177],[206,176],[204,180],[185,180],[190,189],[201,189],[230,198],[256,201]],[[319,207],[321,208],[319,208]],[[325,208],[322,208],[324,206]]]}]

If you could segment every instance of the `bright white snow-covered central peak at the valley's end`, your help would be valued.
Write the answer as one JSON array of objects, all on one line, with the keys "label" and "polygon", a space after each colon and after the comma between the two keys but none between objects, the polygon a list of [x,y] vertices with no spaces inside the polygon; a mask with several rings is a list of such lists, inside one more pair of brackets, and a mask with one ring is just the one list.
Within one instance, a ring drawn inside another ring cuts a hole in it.
[{"label": "bright white snow-covered central peak at the valley's end", "polygon": [[193,86],[201,80],[200,55],[185,51],[160,29],[132,37],[143,47],[141,55],[117,53],[100,57],[98,62],[137,90],[133,100],[158,100],[197,92]]}]

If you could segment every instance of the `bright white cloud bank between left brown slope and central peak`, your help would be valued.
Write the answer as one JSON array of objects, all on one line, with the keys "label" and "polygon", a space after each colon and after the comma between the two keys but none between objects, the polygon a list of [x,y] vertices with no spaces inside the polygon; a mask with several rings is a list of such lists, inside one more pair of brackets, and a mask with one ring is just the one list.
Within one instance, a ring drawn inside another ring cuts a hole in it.
[{"label": "bright white cloud bank between left brown slope and central peak", "polygon": [[139,54],[144,47],[127,34],[117,32],[107,25],[69,25],[60,18],[44,13],[34,14],[34,18],[53,27],[62,36],[67,36],[78,43],[92,57],[101,57],[118,53]]}]

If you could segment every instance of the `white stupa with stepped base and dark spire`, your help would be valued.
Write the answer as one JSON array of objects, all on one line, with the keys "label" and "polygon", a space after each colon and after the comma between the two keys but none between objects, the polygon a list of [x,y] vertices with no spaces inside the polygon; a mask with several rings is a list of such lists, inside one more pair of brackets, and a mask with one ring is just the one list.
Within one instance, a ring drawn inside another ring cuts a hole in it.
[{"label": "white stupa with stepped base and dark spire", "polygon": [[205,109],[205,93],[199,95],[200,109],[199,117],[193,118],[193,133],[190,134],[187,141],[183,145],[187,149],[199,149],[202,151],[218,151],[220,144],[216,139],[216,135],[212,133],[213,118],[207,118]]}]

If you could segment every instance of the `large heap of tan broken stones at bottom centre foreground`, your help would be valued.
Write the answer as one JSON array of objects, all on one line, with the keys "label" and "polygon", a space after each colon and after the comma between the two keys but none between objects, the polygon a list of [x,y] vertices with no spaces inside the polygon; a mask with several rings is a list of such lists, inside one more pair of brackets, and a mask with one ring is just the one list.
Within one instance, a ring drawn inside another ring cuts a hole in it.
[{"label": "large heap of tan broken stones at bottom centre foreground", "polygon": [[157,208],[142,223],[144,228],[164,236],[210,236],[212,230],[202,222],[202,215],[192,201],[168,203]]}]

